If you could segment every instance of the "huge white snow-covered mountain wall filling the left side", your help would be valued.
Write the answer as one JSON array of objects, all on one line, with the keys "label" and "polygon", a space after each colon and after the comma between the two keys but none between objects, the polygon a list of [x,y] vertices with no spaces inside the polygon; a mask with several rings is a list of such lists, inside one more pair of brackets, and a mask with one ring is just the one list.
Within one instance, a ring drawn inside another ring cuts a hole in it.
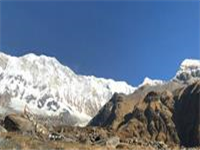
[{"label": "huge white snow-covered mountain wall filling the left side", "polygon": [[75,74],[55,58],[0,53],[0,106],[36,114],[68,114],[87,123],[115,92],[135,90],[126,82]]}]

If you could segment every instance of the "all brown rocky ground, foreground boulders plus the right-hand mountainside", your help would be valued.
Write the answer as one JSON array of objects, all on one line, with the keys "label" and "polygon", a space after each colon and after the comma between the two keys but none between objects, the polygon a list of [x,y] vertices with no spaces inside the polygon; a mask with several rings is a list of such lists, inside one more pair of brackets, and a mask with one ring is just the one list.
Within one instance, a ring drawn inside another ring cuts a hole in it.
[{"label": "all brown rocky ground, foreground boulders plus the right-hand mountainside", "polygon": [[198,149],[200,80],[142,86],[131,95],[115,93],[87,127],[45,125],[29,110],[6,116],[1,125],[0,147]]}]

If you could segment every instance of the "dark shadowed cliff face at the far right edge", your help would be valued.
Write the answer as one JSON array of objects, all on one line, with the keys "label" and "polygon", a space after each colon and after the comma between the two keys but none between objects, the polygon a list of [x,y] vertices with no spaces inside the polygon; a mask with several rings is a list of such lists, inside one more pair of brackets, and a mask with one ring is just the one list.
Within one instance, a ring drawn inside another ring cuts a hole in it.
[{"label": "dark shadowed cliff face at the far right edge", "polygon": [[176,100],[176,128],[185,146],[200,145],[200,82],[184,90]]}]

